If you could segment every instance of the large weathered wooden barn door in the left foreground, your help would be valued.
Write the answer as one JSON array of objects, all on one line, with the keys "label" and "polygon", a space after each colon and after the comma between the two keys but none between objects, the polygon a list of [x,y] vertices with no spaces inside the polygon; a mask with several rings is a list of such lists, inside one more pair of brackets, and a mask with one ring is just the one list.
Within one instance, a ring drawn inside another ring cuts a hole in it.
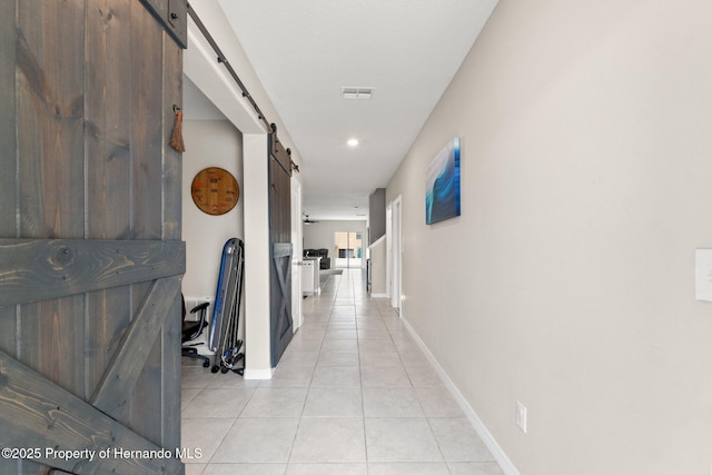
[{"label": "large weathered wooden barn door in the left foreground", "polygon": [[172,0],[0,1],[2,474],[184,473],[185,22]]}]

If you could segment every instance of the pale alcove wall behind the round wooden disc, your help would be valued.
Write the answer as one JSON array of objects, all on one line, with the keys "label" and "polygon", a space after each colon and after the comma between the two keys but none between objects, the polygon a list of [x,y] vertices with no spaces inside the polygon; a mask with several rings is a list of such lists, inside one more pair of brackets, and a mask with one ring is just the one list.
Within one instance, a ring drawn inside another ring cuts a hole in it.
[{"label": "pale alcove wall behind the round wooden disc", "polygon": [[[227,120],[186,120],[182,127],[182,237],[187,269],[182,279],[186,298],[215,297],[225,241],[244,239],[243,136]],[[207,167],[220,167],[237,179],[240,197],[229,212],[211,216],[192,202],[190,184]]]}]

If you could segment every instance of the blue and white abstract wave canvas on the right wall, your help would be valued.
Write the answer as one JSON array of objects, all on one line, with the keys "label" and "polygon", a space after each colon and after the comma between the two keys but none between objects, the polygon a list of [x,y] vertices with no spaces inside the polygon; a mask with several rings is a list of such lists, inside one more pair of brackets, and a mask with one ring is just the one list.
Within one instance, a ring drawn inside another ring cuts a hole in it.
[{"label": "blue and white abstract wave canvas on the right wall", "polygon": [[459,216],[459,137],[454,137],[427,167],[425,222]]}]

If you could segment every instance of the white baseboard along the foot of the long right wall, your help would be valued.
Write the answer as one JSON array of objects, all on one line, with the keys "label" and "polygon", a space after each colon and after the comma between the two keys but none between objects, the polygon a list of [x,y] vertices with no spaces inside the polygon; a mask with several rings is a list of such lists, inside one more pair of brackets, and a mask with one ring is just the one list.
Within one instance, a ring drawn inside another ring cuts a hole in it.
[{"label": "white baseboard along the foot of the long right wall", "polygon": [[459,389],[457,389],[457,386],[455,386],[455,383],[452,382],[439,363],[437,363],[437,359],[435,359],[435,356],[433,356],[428,347],[425,345],[425,342],[421,339],[419,335],[413,329],[411,324],[408,324],[405,318],[400,318],[400,321],[403,321],[403,325],[405,325],[405,327],[413,336],[413,339],[415,339],[415,342],[418,344],[418,346],[423,350],[423,354],[425,354],[425,357],[428,359],[428,362],[431,362],[431,365],[433,365],[433,369],[435,369],[459,407],[463,409],[465,416],[467,417],[467,419],[469,419],[469,423],[475,428],[477,435],[479,435],[494,458],[500,464],[500,467],[502,467],[502,471],[506,475],[521,475],[520,471],[517,471],[510,457],[507,457],[507,454],[504,453],[502,447],[500,447],[500,444],[497,444],[497,441],[495,441],[490,431],[487,431],[487,427],[485,427],[477,413],[475,413],[475,409],[472,408],[469,403],[467,403],[467,399],[465,399],[465,396],[463,396]]}]

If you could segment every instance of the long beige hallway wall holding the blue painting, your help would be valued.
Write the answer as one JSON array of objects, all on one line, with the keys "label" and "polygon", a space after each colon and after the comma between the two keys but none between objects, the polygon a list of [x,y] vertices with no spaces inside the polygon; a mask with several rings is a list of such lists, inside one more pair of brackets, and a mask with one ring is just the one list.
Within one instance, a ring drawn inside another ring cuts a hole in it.
[{"label": "long beige hallway wall holding the blue painting", "polygon": [[[501,0],[388,185],[404,315],[522,474],[710,473],[711,18]],[[426,226],[454,136],[462,216]]]}]

